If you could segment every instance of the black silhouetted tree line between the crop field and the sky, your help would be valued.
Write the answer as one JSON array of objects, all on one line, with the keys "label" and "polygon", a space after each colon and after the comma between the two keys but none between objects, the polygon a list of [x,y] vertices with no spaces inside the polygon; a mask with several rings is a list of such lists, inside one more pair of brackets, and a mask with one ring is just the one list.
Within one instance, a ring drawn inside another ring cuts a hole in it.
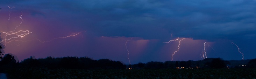
[{"label": "black silhouetted tree line between the crop field and the sky", "polygon": [[[199,61],[150,61],[147,63],[139,62],[137,64],[125,65],[120,61],[109,59],[93,60],[88,57],[63,57],[44,59],[33,59],[31,56],[21,62],[16,62],[14,56],[5,54],[0,58],[0,69],[8,68],[48,68],[48,69],[195,69],[195,68],[256,68],[256,59],[249,60],[246,64],[232,65],[229,61],[221,58],[207,58]],[[242,60],[241,60],[242,61]]]}]

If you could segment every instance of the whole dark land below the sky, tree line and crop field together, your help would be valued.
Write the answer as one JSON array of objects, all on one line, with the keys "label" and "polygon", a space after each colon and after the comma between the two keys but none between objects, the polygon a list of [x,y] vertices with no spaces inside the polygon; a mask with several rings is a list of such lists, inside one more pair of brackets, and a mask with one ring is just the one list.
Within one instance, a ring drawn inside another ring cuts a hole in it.
[{"label": "whole dark land below the sky, tree line and crop field together", "polygon": [[14,56],[6,54],[1,58],[0,72],[6,73],[9,79],[253,79],[256,78],[256,59],[225,61],[208,58],[200,61],[151,61],[125,65],[119,61],[87,57],[30,57],[16,62]]}]

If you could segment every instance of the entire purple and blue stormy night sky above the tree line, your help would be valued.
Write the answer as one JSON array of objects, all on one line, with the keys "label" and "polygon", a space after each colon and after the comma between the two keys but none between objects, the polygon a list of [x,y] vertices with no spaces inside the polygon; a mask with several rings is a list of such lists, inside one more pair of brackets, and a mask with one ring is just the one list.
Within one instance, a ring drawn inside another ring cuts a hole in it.
[{"label": "entire purple and blue stormy night sky above the tree line", "polygon": [[[14,32],[32,32],[2,42],[5,53],[20,61],[86,56],[129,64],[129,51],[131,64],[164,62],[172,60],[183,38],[173,61],[242,60],[241,53],[255,59],[255,5],[255,0],[8,0],[0,1],[0,31],[22,22]],[[15,36],[5,35],[2,40]]]}]

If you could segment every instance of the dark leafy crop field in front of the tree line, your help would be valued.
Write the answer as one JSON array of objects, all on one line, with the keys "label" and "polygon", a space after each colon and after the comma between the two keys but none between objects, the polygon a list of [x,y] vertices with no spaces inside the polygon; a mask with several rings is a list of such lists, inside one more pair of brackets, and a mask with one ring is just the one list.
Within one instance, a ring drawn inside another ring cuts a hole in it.
[{"label": "dark leafy crop field in front of the tree line", "polygon": [[255,79],[256,69],[15,69],[9,79]]}]

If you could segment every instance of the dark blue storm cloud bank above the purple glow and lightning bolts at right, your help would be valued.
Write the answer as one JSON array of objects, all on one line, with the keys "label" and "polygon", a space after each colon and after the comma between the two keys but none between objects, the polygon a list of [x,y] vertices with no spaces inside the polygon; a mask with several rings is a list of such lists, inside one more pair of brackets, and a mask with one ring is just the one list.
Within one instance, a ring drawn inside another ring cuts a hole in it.
[{"label": "dark blue storm cloud bank above the purple glow and lightning bolts at right", "polygon": [[26,0],[16,4],[34,9],[31,15],[65,16],[97,36],[161,39],[173,33],[210,40],[256,35],[254,0]]}]

